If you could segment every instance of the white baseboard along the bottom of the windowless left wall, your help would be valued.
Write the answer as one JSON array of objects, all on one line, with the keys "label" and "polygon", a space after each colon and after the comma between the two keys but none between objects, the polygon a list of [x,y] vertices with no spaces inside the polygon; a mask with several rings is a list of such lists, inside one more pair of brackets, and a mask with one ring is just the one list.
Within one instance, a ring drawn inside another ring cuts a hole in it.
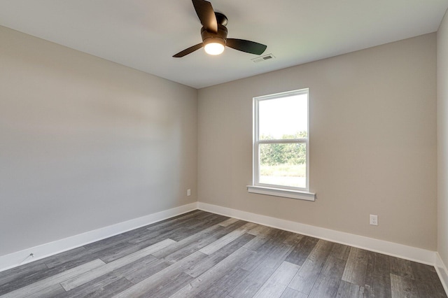
[{"label": "white baseboard along the bottom of the windowless left wall", "polygon": [[[197,209],[197,202],[0,256],[0,272]],[[30,257],[33,253],[34,257]]]}]

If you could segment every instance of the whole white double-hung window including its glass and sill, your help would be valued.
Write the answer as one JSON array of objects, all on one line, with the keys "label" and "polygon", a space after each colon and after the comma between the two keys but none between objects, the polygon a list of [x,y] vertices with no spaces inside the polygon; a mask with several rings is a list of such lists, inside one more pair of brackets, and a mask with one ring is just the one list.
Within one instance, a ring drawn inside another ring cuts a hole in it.
[{"label": "whole white double-hung window including its glass and sill", "polygon": [[308,89],[253,99],[249,192],[314,201],[309,191]]}]

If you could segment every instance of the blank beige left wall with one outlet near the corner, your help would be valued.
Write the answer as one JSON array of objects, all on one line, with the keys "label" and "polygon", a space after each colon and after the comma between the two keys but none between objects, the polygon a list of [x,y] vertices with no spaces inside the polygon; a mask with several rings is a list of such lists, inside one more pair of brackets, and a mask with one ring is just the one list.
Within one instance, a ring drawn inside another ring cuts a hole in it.
[{"label": "blank beige left wall with one outlet near the corner", "polygon": [[197,90],[5,27],[0,140],[0,255],[197,201]]}]

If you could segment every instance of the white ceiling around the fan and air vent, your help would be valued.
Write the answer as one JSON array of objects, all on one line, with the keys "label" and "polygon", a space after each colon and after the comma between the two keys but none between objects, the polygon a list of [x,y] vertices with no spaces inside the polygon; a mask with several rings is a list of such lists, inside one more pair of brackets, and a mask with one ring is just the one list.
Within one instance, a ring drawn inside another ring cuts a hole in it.
[{"label": "white ceiling around the fan and air vent", "polygon": [[[448,0],[211,0],[228,37],[267,45],[276,58],[197,50],[190,0],[0,0],[0,25],[195,88],[437,31]],[[0,41],[1,42],[1,41]]]}]

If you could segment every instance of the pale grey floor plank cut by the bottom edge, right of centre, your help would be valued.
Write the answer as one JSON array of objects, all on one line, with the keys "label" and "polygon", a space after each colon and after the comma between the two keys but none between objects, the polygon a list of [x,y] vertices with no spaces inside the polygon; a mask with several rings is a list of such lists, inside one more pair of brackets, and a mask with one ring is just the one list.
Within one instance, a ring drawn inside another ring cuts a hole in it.
[{"label": "pale grey floor plank cut by the bottom edge, right of centre", "polygon": [[297,271],[299,271],[299,268],[300,266],[297,266],[296,264],[282,262],[280,267],[274,271],[274,274],[269,277],[253,297],[280,297],[295,274],[297,274]]}]

